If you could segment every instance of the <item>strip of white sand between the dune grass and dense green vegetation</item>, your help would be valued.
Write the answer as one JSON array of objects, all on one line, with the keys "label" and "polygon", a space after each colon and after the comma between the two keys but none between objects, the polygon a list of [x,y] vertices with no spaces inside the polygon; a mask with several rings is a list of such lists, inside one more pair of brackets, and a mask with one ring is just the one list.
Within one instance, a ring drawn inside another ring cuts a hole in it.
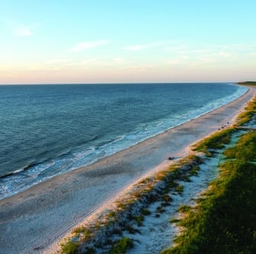
[{"label": "strip of white sand between the dune grass and dense green vegetation", "polygon": [[[151,214],[145,217],[142,227],[136,227],[140,233],[129,234],[124,233],[123,237],[133,239],[133,249],[130,249],[127,254],[139,253],[159,253],[163,249],[171,246],[174,237],[179,233],[179,227],[176,224],[171,224],[171,218],[179,218],[178,208],[181,205],[194,205],[194,199],[207,188],[208,183],[213,180],[218,171],[219,158],[206,160],[205,164],[200,165],[198,176],[191,176],[191,182],[179,181],[178,183],[184,186],[184,191],[181,195],[177,192],[168,193],[172,202],[171,205],[165,207],[165,212],[157,213],[156,208],[161,205],[161,202],[155,202],[149,205]],[[160,217],[155,217],[159,214]]]}]

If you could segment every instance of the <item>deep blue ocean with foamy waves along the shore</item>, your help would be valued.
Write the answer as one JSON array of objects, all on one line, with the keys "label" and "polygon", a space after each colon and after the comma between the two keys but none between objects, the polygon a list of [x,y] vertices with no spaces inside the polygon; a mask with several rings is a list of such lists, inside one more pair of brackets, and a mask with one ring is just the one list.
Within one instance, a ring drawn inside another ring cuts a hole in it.
[{"label": "deep blue ocean with foamy waves along the shore", "polygon": [[245,94],[226,83],[0,86],[0,199]]}]

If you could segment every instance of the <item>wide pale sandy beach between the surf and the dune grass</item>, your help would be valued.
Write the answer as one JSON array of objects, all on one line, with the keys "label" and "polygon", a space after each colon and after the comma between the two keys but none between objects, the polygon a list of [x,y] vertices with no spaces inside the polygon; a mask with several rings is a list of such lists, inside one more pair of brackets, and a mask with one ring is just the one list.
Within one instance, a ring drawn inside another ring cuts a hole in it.
[{"label": "wide pale sandy beach between the surf and the dune grass", "polygon": [[[187,147],[230,125],[255,90],[232,103],[110,157],[0,201],[0,253],[52,252],[72,227],[91,219],[142,176],[184,157]],[[229,122],[229,123],[228,123]]]}]

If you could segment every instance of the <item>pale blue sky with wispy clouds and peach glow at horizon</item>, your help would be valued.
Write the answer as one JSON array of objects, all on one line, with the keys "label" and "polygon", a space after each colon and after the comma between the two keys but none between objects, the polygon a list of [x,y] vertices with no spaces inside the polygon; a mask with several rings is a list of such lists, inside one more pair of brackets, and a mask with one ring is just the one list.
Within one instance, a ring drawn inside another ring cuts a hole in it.
[{"label": "pale blue sky with wispy clouds and peach glow at horizon", "polygon": [[256,80],[255,0],[0,0],[0,84]]}]

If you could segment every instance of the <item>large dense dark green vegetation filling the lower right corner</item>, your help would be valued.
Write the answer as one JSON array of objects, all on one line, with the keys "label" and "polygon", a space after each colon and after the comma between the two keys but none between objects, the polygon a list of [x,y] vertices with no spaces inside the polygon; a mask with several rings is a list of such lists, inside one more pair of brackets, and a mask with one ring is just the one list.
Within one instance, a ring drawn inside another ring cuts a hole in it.
[{"label": "large dense dark green vegetation filling the lower right corner", "polygon": [[256,252],[256,133],[239,139],[225,154],[232,160],[220,167],[195,209],[182,206],[188,216],[171,222],[185,227],[175,240],[177,246],[162,253],[255,253]]}]

